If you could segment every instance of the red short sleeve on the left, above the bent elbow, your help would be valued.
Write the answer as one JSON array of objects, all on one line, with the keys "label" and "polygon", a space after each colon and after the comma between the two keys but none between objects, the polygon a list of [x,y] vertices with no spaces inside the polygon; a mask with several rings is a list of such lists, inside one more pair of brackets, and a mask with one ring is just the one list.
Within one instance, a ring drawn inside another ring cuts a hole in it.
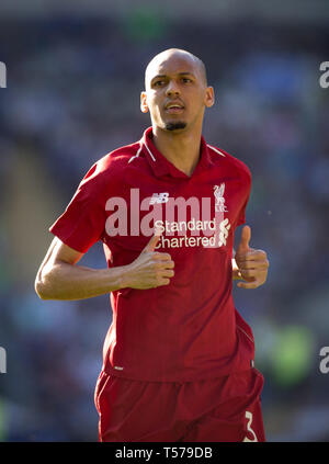
[{"label": "red short sleeve on the left, above the bent elbow", "polygon": [[76,251],[87,252],[104,233],[105,207],[102,197],[102,182],[95,163],[49,231]]}]

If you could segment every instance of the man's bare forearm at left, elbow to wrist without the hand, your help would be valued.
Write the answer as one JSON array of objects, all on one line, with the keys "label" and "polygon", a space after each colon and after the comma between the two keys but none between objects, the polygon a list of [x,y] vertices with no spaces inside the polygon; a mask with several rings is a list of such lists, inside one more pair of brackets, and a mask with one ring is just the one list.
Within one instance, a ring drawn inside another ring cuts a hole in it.
[{"label": "man's bare forearm at left, elbow to wrist without the hand", "polygon": [[84,299],[125,286],[125,268],[90,269],[58,262],[44,269],[35,281],[42,299]]}]

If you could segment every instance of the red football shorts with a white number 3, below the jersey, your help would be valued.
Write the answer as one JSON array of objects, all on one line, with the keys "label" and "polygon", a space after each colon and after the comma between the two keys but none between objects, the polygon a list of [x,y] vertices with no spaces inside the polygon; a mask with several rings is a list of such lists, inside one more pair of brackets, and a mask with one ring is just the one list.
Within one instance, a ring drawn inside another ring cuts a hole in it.
[{"label": "red football shorts with a white number 3, below the jersey", "polygon": [[186,383],[139,382],[102,371],[94,395],[99,441],[265,441],[263,383],[254,367]]}]

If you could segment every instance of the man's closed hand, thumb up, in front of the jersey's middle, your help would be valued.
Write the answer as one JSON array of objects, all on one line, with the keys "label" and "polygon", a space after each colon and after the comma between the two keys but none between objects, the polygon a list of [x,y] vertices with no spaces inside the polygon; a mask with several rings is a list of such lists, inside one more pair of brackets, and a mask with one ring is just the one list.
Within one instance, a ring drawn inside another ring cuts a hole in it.
[{"label": "man's closed hand, thumb up, in front of the jersey's middle", "polygon": [[145,290],[170,283],[174,262],[169,253],[155,251],[159,239],[159,235],[154,235],[139,257],[126,265],[124,287]]}]

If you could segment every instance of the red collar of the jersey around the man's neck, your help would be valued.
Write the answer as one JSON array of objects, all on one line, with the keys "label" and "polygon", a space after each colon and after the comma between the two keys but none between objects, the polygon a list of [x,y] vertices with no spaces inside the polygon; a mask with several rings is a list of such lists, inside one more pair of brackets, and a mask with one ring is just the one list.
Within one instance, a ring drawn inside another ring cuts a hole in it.
[{"label": "red collar of the jersey around the man's neck", "polygon": [[[143,147],[143,151],[146,155],[146,158],[149,162],[150,168],[152,169],[155,176],[162,177],[162,176],[171,176],[174,178],[181,179],[190,179],[184,172],[177,169],[172,162],[170,162],[155,146],[152,142],[152,127],[148,127],[140,139],[140,146]],[[208,169],[213,166],[213,161],[209,155],[209,148],[205,143],[203,136],[201,136],[201,158],[198,160],[197,166],[194,169],[192,176],[194,176],[197,171]]]}]

